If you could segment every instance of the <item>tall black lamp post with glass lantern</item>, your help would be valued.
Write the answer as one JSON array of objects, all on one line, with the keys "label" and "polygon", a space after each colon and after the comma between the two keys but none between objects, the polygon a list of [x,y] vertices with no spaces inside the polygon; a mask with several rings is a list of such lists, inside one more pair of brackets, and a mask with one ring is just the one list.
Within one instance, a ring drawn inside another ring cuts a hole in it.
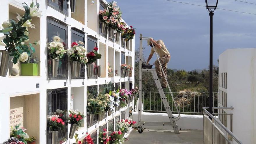
[{"label": "tall black lamp post with glass lantern", "polygon": [[210,94],[209,94],[209,112],[212,114],[212,106],[213,106],[213,99],[212,99],[212,59],[213,59],[213,15],[214,10],[216,10],[218,5],[218,0],[205,0],[206,9],[209,11],[210,16]]}]

